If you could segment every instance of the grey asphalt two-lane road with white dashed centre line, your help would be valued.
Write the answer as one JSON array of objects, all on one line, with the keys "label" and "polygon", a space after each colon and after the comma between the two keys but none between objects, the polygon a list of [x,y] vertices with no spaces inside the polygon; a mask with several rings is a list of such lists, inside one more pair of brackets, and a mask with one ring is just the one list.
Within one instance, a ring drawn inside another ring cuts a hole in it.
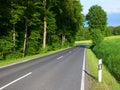
[{"label": "grey asphalt two-lane road with white dashed centre line", "polygon": [[84,50],[74,47],[0,68],[0,90],[81,90]]}]

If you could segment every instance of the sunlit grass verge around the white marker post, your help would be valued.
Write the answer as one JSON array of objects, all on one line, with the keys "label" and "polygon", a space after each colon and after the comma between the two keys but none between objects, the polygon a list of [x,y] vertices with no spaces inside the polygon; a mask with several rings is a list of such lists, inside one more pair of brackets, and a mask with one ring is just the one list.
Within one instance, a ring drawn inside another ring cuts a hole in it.
[{"label": "sunlit grass verge around the white marker post", "polygon": [[[106,67],[103,65],[102,70],[102,82],[98,83],[98,59],[94,53],[87,49],[87,62],[89,69],[89,90],[120,90],[120,84],[109,73]],[[92,76],[92,77],[91,77]]]}]

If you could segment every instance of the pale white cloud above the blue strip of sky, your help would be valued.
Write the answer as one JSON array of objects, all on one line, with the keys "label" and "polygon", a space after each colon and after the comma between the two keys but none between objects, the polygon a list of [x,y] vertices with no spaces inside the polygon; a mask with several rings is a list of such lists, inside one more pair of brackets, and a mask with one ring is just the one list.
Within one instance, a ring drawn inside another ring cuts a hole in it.
[{"label": "pale white cloud above the blue strip of sky", "polygon": [[83,14],[88,13],[92,5],[100,5],[107,13],[120,13],[120,0],[80,0],[83,5]]}]

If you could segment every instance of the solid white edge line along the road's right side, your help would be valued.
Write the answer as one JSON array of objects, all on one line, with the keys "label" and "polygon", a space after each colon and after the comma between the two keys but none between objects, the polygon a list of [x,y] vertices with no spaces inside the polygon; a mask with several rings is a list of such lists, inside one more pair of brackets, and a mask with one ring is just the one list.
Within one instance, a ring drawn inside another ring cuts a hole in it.
[{"label": "solid white edge line along the road's right side", "polygon": [[85,89],[85,52],[86,49],[84,50],[84,57],[83,57],[83,68],[82,68],[82,78],[81,78],[81,88],[80,90],[84,90]]}]

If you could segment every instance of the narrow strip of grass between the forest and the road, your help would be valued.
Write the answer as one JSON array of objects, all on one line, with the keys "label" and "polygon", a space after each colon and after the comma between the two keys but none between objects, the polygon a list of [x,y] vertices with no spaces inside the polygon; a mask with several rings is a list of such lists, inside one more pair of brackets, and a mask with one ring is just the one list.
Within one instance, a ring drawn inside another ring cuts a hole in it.
[{"label": "narrow strip of grass between the forest and the road", "polygon": [[22,62],[22,61],[31,60],[31,59],[33,59],[33,58],[37,58],[37,57],[49,55],[49,54],[52,54],[52,53],[56,53],[56,52],[65,50],[65,49],[67,49],[67,48],[63,48],[63,49],[59,49],[59,50],[55,50],[55,51],[49,51],[49,52],[47,52],[47,53],[38,54],[38,55],[21,57],[21,58],[19,58],[19,59],[0,60],[0,67],[1,67],[1,66],[6,66],[6,65],[9,65],[9,64],[13,64],[13,63],[18,63],[18,62]]}]

